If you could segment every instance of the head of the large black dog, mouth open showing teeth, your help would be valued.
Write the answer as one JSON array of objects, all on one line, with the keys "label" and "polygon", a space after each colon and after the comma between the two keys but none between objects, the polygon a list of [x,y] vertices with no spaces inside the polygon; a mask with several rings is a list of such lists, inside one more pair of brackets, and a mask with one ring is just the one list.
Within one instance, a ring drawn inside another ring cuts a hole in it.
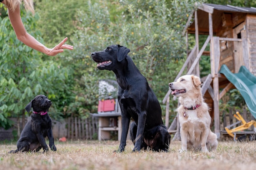
[{"label": "head of the large black dog, mouth open showing teeth", "polygon": [[91,53],[92,60],[97,62],[97,68],[100,70],[113,70],[117,62],[125,59],[130,49],[125,46],[111,45],[105,50]]}]

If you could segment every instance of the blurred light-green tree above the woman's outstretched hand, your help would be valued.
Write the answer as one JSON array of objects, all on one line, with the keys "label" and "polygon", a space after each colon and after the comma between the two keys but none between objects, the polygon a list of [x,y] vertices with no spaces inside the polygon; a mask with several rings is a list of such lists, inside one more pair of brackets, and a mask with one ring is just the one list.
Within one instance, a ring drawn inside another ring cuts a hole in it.
[{"label": "blurred light-green tree above the woman's outstretched hand", "polygon": [[76,28],[76,13],[87,9],[84,0],[37,0],[36,11],[40,13],[38,29],[43,33],[46,46],[55,46],[63,38],[72,37]]}]

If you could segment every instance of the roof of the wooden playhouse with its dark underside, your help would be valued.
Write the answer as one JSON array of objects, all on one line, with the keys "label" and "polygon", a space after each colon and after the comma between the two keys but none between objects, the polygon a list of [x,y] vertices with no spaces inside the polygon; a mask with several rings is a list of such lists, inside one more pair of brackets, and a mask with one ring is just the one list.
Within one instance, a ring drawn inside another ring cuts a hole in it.
[{"label": "roof of the wooden playhouse with its dark underside", "polygon": [[[209,14],[212,14],[213,18],[213,34],[216,35],[220,25],[222,24],[223,13],[225,14],[240,14],[256,15],[256,8],[254,7],[235,7],[231,5],[219,5],[219,4],[206,4],[203,3],[198,7],[198,30],[199,34],[209,34]],[[190,20],[191,18],[189,18]],[[231,18],[226,18],[226,20],[232,20]],[[189,21],[191,22],[191,21]],[[231,21],[232,22],[232,21]],[[188,30],[189,33],[195,33],[195,22],[194,20],[186,26],[184,30]]]}]

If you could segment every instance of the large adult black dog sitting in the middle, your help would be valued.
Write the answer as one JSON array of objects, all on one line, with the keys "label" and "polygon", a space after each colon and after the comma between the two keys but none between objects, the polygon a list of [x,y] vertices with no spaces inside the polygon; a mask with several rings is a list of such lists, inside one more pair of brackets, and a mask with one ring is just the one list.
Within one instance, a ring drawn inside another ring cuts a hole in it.
[{"label": "large adult black dog sitting in the middle", "polygon": [[131,117],[130,138],[133,151],[150,148],[168,151],[170,134],[162,121],[162,110],[146,78],[127,55],[130,49],[112,45],[100,52],[91,53],[100,70],[113,71],[119,84],[118,101],[121,107],[122,133],[119,152],[124,151]]}]

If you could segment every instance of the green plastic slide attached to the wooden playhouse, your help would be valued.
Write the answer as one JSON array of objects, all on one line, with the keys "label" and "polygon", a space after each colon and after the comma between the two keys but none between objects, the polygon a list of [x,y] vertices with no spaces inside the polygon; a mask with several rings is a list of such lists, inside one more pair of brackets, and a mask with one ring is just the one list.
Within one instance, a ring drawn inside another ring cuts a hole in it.
[{"label": "green plastic slide attached to the wooden playhouse", "polygon": [[256,77],[245,66],[241,66],[238,73],[232,73],[223,64],[219,71],[231,82],[245,99],[247,107],[256,119]]}]

